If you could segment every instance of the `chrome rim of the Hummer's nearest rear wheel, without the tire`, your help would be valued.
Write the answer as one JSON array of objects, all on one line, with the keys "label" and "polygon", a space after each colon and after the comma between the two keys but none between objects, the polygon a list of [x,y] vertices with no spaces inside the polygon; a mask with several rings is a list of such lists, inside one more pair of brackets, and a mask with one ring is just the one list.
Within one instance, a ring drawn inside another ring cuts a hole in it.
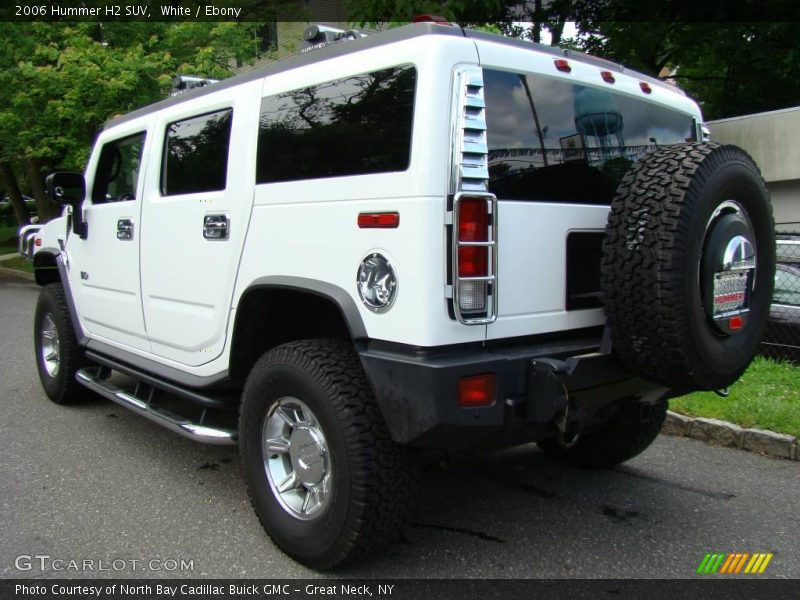
[{"label": "chrome rim of the Hummer's nearest rear wheel, without the tire", "polygon": [[264,471],[272,493],[291,516],[313,519],[331,497],[328,443],[316,416],[297,398],[280,398],[261,428]]}]

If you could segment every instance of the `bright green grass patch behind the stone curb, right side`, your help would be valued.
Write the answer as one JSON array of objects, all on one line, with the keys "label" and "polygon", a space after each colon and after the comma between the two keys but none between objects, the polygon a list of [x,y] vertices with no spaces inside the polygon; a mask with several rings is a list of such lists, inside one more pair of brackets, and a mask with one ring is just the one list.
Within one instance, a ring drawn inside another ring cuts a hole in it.
[{"label": "bright green grass patch behind the stone curb, right side", "polygon": [[696,392],[670,401],[675,412],[800,437],[800,367],[756,357],[728,398]]}]

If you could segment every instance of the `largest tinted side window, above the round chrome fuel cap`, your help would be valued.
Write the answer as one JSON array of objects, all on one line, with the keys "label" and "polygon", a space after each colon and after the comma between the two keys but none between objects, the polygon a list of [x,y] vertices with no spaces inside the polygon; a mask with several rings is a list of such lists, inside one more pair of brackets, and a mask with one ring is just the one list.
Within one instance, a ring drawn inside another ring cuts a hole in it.
[{"label": "largest tinted side window, above the round chrome fuel cap", "polygon": [[402,66],[264,98],[257,183],[406,170],[415,87]]}]

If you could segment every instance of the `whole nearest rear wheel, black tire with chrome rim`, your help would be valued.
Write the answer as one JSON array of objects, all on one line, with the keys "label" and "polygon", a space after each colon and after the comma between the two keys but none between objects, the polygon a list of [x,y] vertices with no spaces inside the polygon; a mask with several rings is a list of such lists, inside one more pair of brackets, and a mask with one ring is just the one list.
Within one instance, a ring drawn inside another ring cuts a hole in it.
[{"label": "whole nearest rear wheel, black tire with chrome rim", "polygon": [[411,484],[352,347],[279,346],[245,385],[240,444],[250,499],[272,540],[329,569],[391,539]]}]

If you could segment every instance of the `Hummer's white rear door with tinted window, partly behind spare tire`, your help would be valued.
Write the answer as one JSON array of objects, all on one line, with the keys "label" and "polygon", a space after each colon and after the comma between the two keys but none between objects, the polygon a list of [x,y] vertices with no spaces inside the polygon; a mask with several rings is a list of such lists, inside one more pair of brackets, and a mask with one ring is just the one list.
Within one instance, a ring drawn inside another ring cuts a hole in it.
[{"label": "Hummer's white rear door with tinted window, partly behind spare tire", "polygon": [[699,112],[677,91],[594,64],[559,71],[540,52],[482,42],[479,52],[498,199],[499,306],[487,336],[602,325],[600,250],[616,187],[647,152],[692,139]]}]

